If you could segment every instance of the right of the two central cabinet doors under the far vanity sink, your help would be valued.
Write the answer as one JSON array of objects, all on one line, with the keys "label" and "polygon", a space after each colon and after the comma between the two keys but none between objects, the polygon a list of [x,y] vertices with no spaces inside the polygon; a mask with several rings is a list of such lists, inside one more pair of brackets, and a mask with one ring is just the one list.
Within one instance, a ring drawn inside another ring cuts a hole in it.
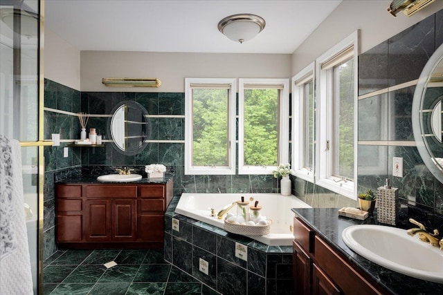
[{"label": "right of the two central cabinet doors under the far vanity sink", "polygon": [[111,203],[112,240],[136,240],[136,200]]}]

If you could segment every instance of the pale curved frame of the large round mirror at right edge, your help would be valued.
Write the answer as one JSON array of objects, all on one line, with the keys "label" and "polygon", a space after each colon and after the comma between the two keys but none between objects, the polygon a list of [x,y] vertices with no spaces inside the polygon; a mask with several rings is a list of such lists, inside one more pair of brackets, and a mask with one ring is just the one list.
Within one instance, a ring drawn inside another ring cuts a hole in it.
[{"label": "pale curved frame of the large round mirror at right edge", "polygon": [[426,95],[426,89],[429,81],[431,80],[431,76],[437,68],[438,64],[443,61],[443,44],[440,45],[437,50],[433,53],[431,58],[428,60],[426,65],[424,66],[422,73],[417,82],[417,86],[415,87],[415,93],[413,98],[413,106],[412,106],[412,121],[413,121],[413,133],[415,142],[417,144],[417,149],[422,157],[424,164],[426,167],[433,173],[435,178],[443,183],[443,170],[440,164],[437,164],[437,160],[433,158],[433,153],[428,146],[424,138],[424,128],[428,122],[424,121],[423,117],[423,103],[424,97]]}]

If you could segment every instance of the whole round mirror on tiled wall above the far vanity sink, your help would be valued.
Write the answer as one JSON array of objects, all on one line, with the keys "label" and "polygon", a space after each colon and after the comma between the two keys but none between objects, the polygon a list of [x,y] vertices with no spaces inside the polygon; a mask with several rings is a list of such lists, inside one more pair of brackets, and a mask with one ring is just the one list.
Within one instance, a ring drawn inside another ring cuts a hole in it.
[{"label": "whole round mirror on tiled wall above the far vanity sink", "polygon": [[151,121],[146,109],[134,101],[118,104],[109,119],[109,134],[114,148],[125,155],[140,153],[151,136]]}]

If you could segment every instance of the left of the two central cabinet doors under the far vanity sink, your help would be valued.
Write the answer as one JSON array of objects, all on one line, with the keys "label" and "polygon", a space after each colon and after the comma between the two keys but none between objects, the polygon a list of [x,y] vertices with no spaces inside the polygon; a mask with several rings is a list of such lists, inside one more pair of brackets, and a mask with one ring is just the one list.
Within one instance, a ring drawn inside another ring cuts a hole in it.
[{"label": "left of the two central cabinet doors under the far vanity sink", "polygon": [[86,200],[84,203],[85,240],[111,240],[111,200]]}]

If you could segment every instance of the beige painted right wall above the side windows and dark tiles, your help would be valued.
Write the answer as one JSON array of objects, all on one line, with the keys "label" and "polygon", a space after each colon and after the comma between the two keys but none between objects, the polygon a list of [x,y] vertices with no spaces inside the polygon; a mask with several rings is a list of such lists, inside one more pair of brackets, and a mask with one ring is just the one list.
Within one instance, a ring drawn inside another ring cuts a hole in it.
[{"label": "beige painted right wall above the side windows and dark tiles", "polygon": [[386,10],[391,2],[392,0],[343,0],[329,17],[309,35],[309,38],[293,52],[292,75],[296,75],[355,30],[360,30],[359,53],[364,53],[443,9],[443,1],[435,1],[411,17],[406,17],[403,12],[400,12],[397,17],[393,17]]}]

